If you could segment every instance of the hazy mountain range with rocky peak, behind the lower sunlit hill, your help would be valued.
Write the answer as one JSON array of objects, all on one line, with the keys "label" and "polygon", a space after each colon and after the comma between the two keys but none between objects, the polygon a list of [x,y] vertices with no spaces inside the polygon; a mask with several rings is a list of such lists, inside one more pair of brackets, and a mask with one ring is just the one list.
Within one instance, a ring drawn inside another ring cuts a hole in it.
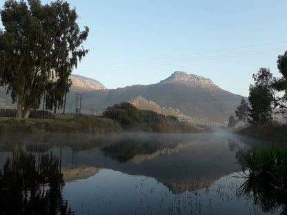
[{"label": "hazy mountain range with rocky peak, behind the lower sunlit hill", "polygon": [[[154,101],[163,110],[179,110],[195,119],[196,123],[218,126],[227,124],[230,114],[234,114],[243,97],[222,90],[203,76],[179,71],[159,83],[112,90],[106,89],[99,81],[83,76],[72,75],[71,79],[73,85],[67,94],[66,112],[75,112],[76,94],[81,94],[82,113],[90,113],[91,110],[99,112],[115,103],[142,96]],[[9,105],[7,101],[4,103]]]}]

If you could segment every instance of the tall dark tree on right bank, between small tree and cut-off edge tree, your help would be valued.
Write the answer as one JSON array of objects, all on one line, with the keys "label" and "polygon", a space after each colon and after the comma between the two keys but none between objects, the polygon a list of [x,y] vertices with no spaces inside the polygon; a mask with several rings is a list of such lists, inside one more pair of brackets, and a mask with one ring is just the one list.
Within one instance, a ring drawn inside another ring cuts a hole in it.
[{"label": "tall dark tree on right bank, between small tree and cut-off edge tree", "polygon": [[269,69],[260,68],[257,74],[253,74],[253,79],[255,84],[249,87],[251,107],[248,110],[248,122],[257,126],[266,125],[272,121],[273,77]]}]

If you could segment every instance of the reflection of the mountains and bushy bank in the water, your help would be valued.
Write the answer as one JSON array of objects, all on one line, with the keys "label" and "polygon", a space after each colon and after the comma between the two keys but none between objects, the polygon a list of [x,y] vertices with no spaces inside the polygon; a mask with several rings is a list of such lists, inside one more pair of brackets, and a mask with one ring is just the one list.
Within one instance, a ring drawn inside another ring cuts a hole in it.
[{"label": "reflection of the mountains and bushy bank in the water", "polygon": [[68,180],[106,168],[157,178],[179,194],[208,187],[221,176],[240,170],[232,161],[244,143],[230,143],[228,138],[229,134],[46,135],[21,138],[25,140],[21,146],[31,153],[38,147],[38,151],[55,154],[63,147],[62,166]]}]

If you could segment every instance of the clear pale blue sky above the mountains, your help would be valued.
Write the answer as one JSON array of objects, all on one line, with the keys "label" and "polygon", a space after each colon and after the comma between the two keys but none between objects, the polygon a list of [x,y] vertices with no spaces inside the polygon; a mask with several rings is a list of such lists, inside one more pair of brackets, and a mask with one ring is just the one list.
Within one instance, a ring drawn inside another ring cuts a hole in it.
[{"label": "clear pale blue sky above the mountains", "polygon": [[[50,1],[42,0],[42,3]],[[3,6],[4,1],[0,0]],[[252,75],[287,50],[286,0],[68,0],[89,53],[72,74],[106,88],[152,84],[175,71],[248,96]]]}]

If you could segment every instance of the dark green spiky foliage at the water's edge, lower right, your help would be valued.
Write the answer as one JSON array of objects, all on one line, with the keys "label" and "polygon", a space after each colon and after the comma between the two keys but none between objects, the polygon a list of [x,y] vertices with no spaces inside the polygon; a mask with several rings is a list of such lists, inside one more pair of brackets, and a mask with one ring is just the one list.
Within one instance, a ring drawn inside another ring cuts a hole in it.
[{"label": "dark green spiky foliage at the water's edge, lower right", "polygon": [[287,149],[286,147],[248,148],[239,152],[239,163],[247,180],[239,188],[244,196],[253,196],[266,212],[281,207],[287,212]]}]

